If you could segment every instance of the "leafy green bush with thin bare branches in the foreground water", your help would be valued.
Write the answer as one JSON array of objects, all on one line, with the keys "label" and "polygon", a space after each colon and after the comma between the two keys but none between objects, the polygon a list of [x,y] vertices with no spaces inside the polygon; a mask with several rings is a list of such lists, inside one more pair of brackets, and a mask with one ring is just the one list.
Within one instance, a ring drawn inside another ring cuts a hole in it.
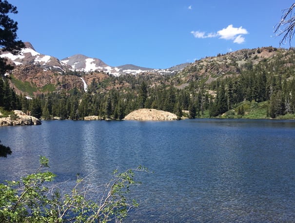
[{"label": "leafy green bush with thin bare branches in the foreground water", "polygon": [[48,159],[40,157],[35,173],[20,181],[0,184],[1,223],[107,223],[122,222],[131,208],[138,203],[130,199],[129,186],[135,171],[147,172],[138,166],[123,173],[114,171],[107,184],[93,186],[85,178],[77,176],[70,192],[59,189],[58,184],[48,186],[55,175],[46,171]]}]

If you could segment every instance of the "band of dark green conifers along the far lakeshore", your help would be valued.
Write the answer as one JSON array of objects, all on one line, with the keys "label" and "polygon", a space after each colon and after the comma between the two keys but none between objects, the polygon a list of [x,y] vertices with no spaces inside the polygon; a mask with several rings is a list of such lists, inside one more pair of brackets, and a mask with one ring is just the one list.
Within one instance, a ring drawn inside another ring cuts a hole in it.
[{"label": "band of dark green conifers along the far lakeshore", "polygon": [[[98,116],[101,120],[123,119],[131,111],[139,108],[154,108],[177,114],[179,119],[216,117],[238,107],[243,101],[268,101],[267,117],[295,113],[295,51],[284,51],[283,55],[262,60],[239,74],[219,78],[205,84],[191,81],[183,89],[173,86],[177,77],[123,75],[109,76],[108,84],[93,80],[88,91],[74,89],[71,92],[41,94],[30,100],[17,95],[8,85],[0,83],[0,106],[5,109],[20,109],[43,119],[83,120],[86,116]],[[109,83],[114,83],[106,90]],[[128,83],[126,87],[115,87],[115,83]],[[187,111],[184,113],[183,111]]]}]

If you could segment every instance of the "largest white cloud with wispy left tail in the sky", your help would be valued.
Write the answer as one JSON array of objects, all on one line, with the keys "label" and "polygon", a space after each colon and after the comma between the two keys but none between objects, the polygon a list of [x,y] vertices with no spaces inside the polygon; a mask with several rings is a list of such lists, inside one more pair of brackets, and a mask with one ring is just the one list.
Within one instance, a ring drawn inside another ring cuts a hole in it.
[{"label": "largest white cloud with wispy left tail in the sky", "polygon": [[244,28],[239,27],[235,28],[232,24],[228,25],[226,28],[223,28],[216,33],[208,33],[206,32],[199,32],[199,31],[192,31],[191,32],[195,38],[215,38],[219,37],[219,39],[224,39],[224,40],[233,40],[234,43],[241,44],[245,41],[245,38],[243,35],[249,34],[248,31]]}]

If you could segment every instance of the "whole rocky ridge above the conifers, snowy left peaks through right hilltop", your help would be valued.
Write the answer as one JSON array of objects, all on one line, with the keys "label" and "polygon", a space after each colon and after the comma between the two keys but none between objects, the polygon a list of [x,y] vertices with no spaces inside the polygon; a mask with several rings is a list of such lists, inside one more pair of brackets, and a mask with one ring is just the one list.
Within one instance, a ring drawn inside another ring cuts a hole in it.
[{"label": "whole rocky ridge above the conifers, snowy left peaks through right hilltop", "polygon": [[[219,78],[239,75],[243,70],[261,62],[272,62],[276,57],[290,57],[293,51],[274,47],[241,49],[216,57],[206,57],[194,63],[179,64],[165,70],[143,68],[133,64],[111,67],[99,59],[84,55],[74,55],[59,61],[57,58],[39,54],[26,42],[19,55],[1,52],[0,57],[7,58],[15,65],[9,75],[10,85],[17,93],[34,97],[40,93],[66,92],[78,89],[87,91],[93,81],[100,83],[101,91],[110,89],[134,88],[134,82],[126,75],[145,76],[150,86],[166,84],[179,89],[191,82],[210,83]],[[286,56],[286,55],[289,56]],[[125,78],[126,76],[126,78]],[[137,83],[138,84],[138,83]]]}]

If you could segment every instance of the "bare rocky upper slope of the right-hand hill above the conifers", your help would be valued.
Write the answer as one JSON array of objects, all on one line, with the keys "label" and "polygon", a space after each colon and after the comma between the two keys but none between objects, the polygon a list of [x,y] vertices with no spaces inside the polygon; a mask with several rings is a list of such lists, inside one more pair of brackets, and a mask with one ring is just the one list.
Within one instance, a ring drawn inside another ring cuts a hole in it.
[{"label": "bare rocky upper slope of the right-hand hill above the conifers", "polygon": [[238,75],[260,62],[272,62],[274,57],[283,57],[286,52],[286,49],[269,46],[218,54],[216,57],[206,57],[189,64],[174,79],[183,86],[197,80],[210,83],[219,78]]}]

